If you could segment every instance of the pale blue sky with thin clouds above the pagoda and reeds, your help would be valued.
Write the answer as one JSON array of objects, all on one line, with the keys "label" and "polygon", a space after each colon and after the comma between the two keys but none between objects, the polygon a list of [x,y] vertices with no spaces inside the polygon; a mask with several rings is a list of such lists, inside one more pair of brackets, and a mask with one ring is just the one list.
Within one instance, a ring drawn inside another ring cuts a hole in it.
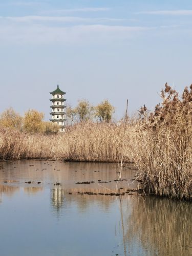
[{"label": "pale blue sky with thin clouds above the pagoda and reeds", "polygon": [[191,0],[0,0],[0,112],[108,99],[116,120],[192,83]]}]

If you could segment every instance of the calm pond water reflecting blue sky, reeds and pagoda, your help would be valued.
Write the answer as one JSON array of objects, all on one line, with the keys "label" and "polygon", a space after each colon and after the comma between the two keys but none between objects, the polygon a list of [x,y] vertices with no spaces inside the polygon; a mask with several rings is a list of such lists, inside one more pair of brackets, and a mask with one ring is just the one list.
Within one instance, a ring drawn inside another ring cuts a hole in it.
[{"label": "calm pond water reflecting blue sky, reeds and pagoda", "polygon": [[[1,162],[0,255],[192,255],[191,203],[98,195],[113,193],[117,167]],[[123,170],[122,192],[137,187],[135,174]],[[85,181],[92,183],[76,184]],[[81,195],[85,191],[97,195]]]}]

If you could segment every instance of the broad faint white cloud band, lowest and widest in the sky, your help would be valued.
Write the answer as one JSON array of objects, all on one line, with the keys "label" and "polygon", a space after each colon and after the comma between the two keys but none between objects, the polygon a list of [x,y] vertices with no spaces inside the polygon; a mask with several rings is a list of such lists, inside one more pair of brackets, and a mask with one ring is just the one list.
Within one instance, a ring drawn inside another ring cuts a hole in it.
[{"label": "broad faint white cloud band, lowest and widest in the sky", "polygon": [[127,40],[144,27],[78,25],[70,27],[49,27],[42,25],[11,24],[0,25],[0,42],[14,44],[105,44],[111,41]]}]

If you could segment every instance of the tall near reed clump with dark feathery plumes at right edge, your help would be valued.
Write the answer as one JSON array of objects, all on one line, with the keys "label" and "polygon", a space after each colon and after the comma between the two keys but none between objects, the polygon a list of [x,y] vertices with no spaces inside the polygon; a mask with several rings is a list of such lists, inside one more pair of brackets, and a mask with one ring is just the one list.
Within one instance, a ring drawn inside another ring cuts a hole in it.
[{"label": "tall near reed clump with dark feathery plumes at right edge", "polygon": [[[192,199],[192,86],[182,98],[165,85],[162,104],[135,124],[127,155],[140,169],[147,194]],[[146,111],[145,111],[146,112]]]}]

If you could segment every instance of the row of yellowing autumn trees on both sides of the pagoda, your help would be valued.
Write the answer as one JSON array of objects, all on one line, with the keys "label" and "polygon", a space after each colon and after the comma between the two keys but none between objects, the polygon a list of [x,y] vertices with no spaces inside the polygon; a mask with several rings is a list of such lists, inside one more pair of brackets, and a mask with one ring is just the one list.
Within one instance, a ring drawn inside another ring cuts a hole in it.
[{"label": "row of yellowing autumn trees on both sides of the pagoda", "polygon": [[[110,122],[114,113],[114,106],[108,100],[93,106],[88,100],[80,100],[75,108],[66,108],[66,126],[78,122]],[[52,134],[58,132],[58,125],[44,121],[44,113],[37,110],[28,110],[24,117],[9,108],[0,115],[0,126],[9,127],[26,133]]]}]

